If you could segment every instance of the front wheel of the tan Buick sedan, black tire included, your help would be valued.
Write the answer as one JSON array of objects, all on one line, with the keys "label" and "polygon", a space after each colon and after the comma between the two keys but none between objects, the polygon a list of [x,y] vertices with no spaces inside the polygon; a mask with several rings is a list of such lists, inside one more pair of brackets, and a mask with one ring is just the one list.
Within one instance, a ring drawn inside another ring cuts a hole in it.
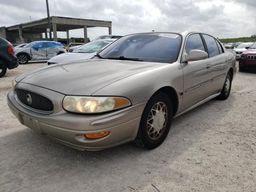
[{"label": "front wheel of the tan Buick sedan, black tire included", "polygon": [[[166,111],[166,115],[162,111],[158,111],[158,112],[155,111],[156,113],[153,115],[152,111],[154,111],[155,107],[157,107],[157,110],[158,110],[158,109],[161,109],[161,106],[163,106],[162,110]],[[160,112],[162,112],[162,114],[159,114],[157,116],[157,114]],[[155,119],[157,119],[158,121],[156,121]],[[154,120],[155,120],[155,123],[154,123]],[[162,124],[163,121],[164,123]],[[136,136],[136,139],[134,140],[134,143],[140,147],[144,147],[147,149],[154,149],[158,147],[160,144],[162,144],[162,142],[165,140],[166,136],[168,135],[171,124],[172,124],[172,102],[166,93],[158,92],[154,96],[152,96],[152,98],[150,98],[150,100],[146,104],[146,107],[144,108],[144,111],[142,113],[141,120],[140,120],[138,134]],[[159,127],[163,127],[163,128],[157,130],[157,128]],[[152,129],[154,133],[148,134],[148,130],[150,132]],[[159,132],[159,133],[155,134],[155,132]],[[155,135],[158,137],[153,138]]]}]

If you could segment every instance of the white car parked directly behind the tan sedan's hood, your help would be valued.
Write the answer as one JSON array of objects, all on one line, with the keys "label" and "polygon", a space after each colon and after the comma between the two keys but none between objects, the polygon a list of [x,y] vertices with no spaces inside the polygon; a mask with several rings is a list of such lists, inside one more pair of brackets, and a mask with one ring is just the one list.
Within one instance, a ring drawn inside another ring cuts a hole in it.
[{"label": "white car parked directly behind the tan sedan's hood", "polygon": [[49,59],[48,62],[45,64],[45,66],[56,64],[56,63],[63,63],[63,62],[92,58],[94,57],[94,55],[98,50],[104,49],[106,46],[108,46],[115,40],[117,39],[107,39],[107,40],[103,39],[103,40],[97,40],[97,41],[86,43],[76,48],[72,52],[63,53],[61,55],[57,55]]}]

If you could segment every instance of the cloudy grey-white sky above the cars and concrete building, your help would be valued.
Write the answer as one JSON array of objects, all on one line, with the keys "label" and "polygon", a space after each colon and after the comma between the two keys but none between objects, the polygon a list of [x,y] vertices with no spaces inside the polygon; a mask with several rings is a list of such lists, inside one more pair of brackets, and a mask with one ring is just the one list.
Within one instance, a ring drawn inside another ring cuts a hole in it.
[{"label": "cloudy grey-white sky above the cars and concrete building", "polygon": [[[197,30],[218,38],[256,34],[256,0],[48,0],[50,16],[112,21],[112,34]],[[45,0],[0,0],[1,26],[47,17]],[[88,37],[108,28],[88,28]],[[66,32],[58,32],[66,38]],[[83,29],[70,37],[84,37]]]}]

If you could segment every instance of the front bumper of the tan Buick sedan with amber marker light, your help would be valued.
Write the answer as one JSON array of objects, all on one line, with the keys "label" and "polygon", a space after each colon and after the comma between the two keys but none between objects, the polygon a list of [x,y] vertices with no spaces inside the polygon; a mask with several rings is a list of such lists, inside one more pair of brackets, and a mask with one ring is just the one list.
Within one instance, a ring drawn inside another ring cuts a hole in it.
[{"label": "front bumper of the tan Buick sedan with amber marker light", "polygon": [[[40,89],[44,91],[44,88]],[[47,92],[53,91],[47,90]],[[60,98],[64,97],[63,94],[57,92],[53,94]],[[144,102],[121,110],[97,115],[69,113],[63,109],[60,110],[57,106],[52,114],[47,115],[22,107],[15,100],[13,91],[8,93],[7,102],[11,112],[21,124],[78,150],[101,150],[133,141],[136,138],[140,117],[146,105],[146,102]],[[105,131],[109,131],[110,134],[104,138],[87,139],[84,137],[84,134]]]}]

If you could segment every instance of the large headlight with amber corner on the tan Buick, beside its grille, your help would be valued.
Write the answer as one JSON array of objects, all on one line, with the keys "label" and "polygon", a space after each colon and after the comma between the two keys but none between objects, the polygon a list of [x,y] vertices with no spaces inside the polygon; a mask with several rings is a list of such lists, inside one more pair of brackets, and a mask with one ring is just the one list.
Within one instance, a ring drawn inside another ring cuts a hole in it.
[{"label": "large headlight with amber corner on the tan Buick, beside its grille", "polygon": [[62,106],[76,113],[101,113],[130,106],[130,100],[121,97],[65,96]]}]

